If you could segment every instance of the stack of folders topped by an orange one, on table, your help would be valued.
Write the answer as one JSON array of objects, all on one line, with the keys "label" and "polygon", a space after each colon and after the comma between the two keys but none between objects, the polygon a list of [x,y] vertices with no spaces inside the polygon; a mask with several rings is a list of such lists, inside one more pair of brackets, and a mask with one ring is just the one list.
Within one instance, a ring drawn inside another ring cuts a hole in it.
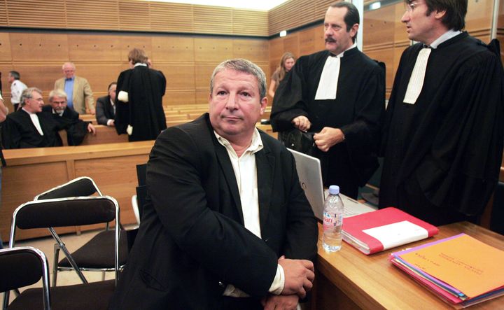
[{"label": "stack of folders topped by an orange one, on table", "polygon": [[467,234],[392,253],[389,260],[450,304],[468,307],[504,295],[504,251]]}]

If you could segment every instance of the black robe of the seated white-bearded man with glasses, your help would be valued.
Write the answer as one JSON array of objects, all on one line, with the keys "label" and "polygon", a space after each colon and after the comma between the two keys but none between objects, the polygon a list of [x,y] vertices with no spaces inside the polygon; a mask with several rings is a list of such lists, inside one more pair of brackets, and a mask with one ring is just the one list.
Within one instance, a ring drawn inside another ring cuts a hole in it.
[{"label": "black robe of the seated white-bearded man with glasses", "polygon": [[[59,116],[59,114],[55,113],[52,110],[51,106],[43,106],[43,113],[49,113],[52,115],[53,120],[55,120],[59,125],[59,128],[64,128],[66,131],[66,141],[69,146],[78,146],[83,142],[86,134],[87,134],[87,125],[90,122],[84,122],[79,119],[79,113],[73,111],[73,109],[66,106],[63,111],[63,114]],[[59,145],[62,145],[61,136],[56,132],[57,139],[59,139]]]}]

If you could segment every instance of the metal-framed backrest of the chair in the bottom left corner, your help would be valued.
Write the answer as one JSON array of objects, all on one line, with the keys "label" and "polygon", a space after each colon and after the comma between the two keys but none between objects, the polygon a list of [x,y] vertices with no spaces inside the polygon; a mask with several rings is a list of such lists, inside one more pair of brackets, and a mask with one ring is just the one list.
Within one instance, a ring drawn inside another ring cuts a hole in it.
[{"label": "metal-framed backrest of the chair in the bottom left corner", "polygon": [[8,291],[37,283],[42,279],[44,309],[50,309],[49,267],[47,258],[38,248],[23,246],[0,250],[0,292],[3,307],[8,304]]}]

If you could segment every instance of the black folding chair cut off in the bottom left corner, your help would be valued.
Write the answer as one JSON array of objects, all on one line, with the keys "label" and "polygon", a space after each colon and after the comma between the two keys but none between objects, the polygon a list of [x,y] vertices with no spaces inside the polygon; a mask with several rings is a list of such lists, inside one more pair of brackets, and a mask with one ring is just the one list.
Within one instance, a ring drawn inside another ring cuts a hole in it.
[{"label": "black folding chair cut off in the bottom left corner", "polygon": [[[38,248],[25,246],[0,250],[0,292],[2,309],[108,309],[114,291],[113,281],[49,287],[47,258]],[[9,304],[9,290],[23,288],[42,279],[42,288],[24,290]]]}]

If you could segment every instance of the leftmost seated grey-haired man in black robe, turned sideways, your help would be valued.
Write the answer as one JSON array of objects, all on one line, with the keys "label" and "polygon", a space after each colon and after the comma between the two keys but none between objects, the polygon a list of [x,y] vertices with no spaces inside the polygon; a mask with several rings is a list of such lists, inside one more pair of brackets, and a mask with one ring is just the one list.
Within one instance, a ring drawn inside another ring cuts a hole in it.
[{"label": "leftmost seated grey-haired man in black robe, turned sideways", "polygon": [[42,91],[29,87],[22,92],[21,108],[7,115],[2,125],[3,148],[45,148],[62,146],[57,132],[75,121],[57,122],[50,113],[42,112]]}]

